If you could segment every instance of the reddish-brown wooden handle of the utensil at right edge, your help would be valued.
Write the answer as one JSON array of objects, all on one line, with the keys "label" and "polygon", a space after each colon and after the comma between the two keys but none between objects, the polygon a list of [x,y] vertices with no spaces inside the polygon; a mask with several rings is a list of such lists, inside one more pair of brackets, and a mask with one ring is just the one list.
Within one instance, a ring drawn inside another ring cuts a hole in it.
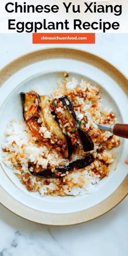
[{"label": "reddish-brown wooden handle of the utensil at right edge", "polygon": [[128,124],[115,124],[113,133],[114,135],[128,139]]}]

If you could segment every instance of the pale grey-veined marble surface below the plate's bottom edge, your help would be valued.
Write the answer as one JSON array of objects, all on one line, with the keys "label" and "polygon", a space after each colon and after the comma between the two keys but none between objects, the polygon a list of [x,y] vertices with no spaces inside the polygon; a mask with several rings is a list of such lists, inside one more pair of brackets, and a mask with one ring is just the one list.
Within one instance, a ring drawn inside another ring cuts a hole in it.
[{"label": "pale grey-veined marble surface below the plate's bottom edge", "polygon": [[127,255],[127,202],[91,222],[52,227],[23,220],[0,206],[0,255]]}]

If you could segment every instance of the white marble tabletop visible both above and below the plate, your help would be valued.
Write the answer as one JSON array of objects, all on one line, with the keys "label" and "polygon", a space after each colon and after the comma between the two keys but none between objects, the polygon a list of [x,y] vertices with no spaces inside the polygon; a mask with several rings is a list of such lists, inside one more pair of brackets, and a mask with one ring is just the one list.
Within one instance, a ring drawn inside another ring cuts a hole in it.
[{"label": "white marble tabletop visible both above and below the plate", "polygon": [[[127,75],[127,40],[126,34],[99,34],[95,45],[74,44],[66,47],[85,49],[104,57]],[[33,45],[29,34],[0,34],[0,42],[0,68],[21,54],[52,47],[50,44]],[[127,203],[128,199],[125,199],[99,219],[71,227],[48,227],[29,222],[0,205],[0,256],[126,256]]]}]

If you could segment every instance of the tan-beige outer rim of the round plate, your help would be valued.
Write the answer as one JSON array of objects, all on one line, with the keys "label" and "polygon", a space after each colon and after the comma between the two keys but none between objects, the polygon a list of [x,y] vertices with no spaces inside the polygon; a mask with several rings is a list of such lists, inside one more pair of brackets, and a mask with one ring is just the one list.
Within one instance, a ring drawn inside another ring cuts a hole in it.
[{"label": "tan-beige outer rim of the round plate", "polygon": [[[128,95],[128,80],[123,73],[121,73],[111,63],[107,62],[98,55],[86,52],[80,49],[68,47],[53,47],[38,49],[33,52],[26,53],[17,59],[12,60],[9,64],[4,66],[0,71],[0,86],[7,81],[10,76],[20,71],[35,62],[50,59],[71,59],[86,62],[95,66],[107,73],[117,84],[123,89],[124,93]],[[81,210],[76,213],[68,214],[51,214],[44,213],[39,210],[32,209],[24,204],[18,202],[0,185],[0,203],[12,213],[21,216],[25,220],[51,226],[70,226],[77,225],[83,222],[91,221],[97,217],[109,212],[117,206],[128,194],[128,175],[119,187],[105,200],[96,204],[95,206],[86,210]]]}]

